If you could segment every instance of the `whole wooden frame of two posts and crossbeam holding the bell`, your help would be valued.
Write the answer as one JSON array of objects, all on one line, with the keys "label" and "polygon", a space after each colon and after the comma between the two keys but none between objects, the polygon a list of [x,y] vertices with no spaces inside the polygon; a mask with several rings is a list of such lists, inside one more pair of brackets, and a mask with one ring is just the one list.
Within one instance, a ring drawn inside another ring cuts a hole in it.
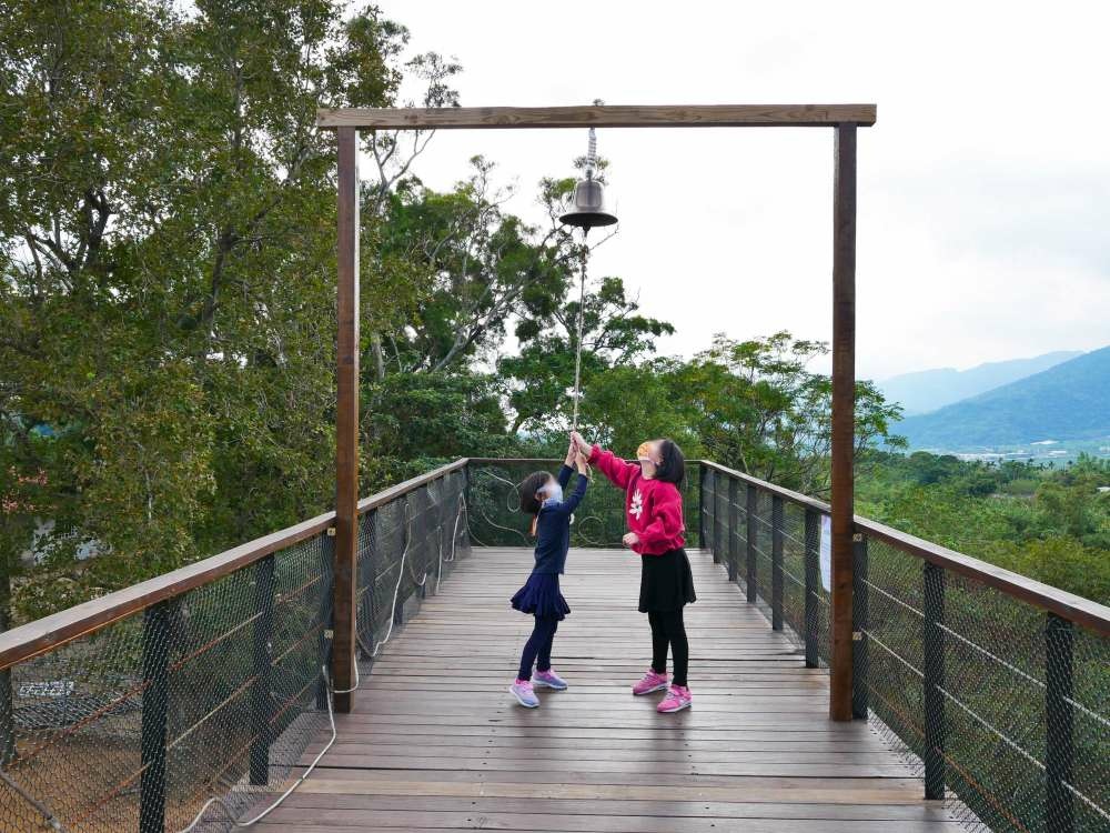
[{"label": "whole wooden frame of two posts and crossbeam holding the bell", "polygon": [[[856,387],[856,129],[875,104],[476,107],[321,110],[339,144],[339,350],[335,462],[335,625],[332,680],[355,684],[359,543],[359,131],[525,128],[830,128],[833,195],[833,623],[829,716],[851,720],[851,586]],[[352,706],[337,694],[337,711]]]}]

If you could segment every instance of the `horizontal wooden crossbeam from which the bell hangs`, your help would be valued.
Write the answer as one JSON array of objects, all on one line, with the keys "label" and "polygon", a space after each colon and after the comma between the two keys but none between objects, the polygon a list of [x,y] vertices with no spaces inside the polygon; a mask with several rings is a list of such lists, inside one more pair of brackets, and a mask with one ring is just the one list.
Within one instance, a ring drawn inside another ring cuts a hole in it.
[{"label": "horizontal wooden crossbeam from which the bell hangs", "polygon": [[321,128],[463,130],[504,128],[869,127],[875,104],[674,104],[585,107],[349,108],[320,110]]}]

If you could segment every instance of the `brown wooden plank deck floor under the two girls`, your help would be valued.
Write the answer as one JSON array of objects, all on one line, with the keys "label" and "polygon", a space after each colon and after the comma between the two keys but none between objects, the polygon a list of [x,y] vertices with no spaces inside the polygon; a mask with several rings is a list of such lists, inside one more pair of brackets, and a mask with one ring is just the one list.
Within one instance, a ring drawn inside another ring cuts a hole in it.
[{"label": "brown wooden plank deck floor under the two girls", "polygon": [[[825,672],[692,553],[694,707],[633,697],[650,658],[638,556],[575,550],[554,666],[571,684],[528,710],[507,692],[531,619],[508,598],[527,550],[475,550],[383,649],[312,776],[260,831],[921,831],[939,802],[866,723],[827,720]],[[321,749],[320,739],[306,760]]]}]

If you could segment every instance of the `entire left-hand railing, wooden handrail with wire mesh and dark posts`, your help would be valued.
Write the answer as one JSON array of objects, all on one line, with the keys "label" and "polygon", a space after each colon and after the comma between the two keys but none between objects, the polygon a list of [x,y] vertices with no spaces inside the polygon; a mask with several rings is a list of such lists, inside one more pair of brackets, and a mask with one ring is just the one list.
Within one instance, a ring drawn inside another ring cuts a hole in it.
[{"label": "entire left-hand railing, wooden handrail with wire mesh and dark posts", "polygon": [[[470,551],[466,481],[360,503],[361,659]],[[228,831],[283,797],[334,733],[334,521],[0,635],[0,831]]]}]

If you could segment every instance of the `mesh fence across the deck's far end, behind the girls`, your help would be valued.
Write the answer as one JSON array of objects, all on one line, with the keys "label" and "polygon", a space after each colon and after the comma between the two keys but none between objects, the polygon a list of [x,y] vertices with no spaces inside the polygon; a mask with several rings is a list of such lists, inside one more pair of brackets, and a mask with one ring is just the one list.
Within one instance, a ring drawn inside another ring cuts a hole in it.
[{"label": "mesh fence across the deck's far end, behind the girls", "polygon": [[[521,511],[516,488],[534,471],[556,474],[557,460],[502,460],[472,462],[468,466],[471,536],[480,546],[532,546],[529,534],[532,515]],[[697,518],[700,510],[698,496],[698,465],[687,464],[686,480],[682,485],[686,518],[686,545],[698,546]],[[574,488],[572,475],[567,491]],[[594,471],[589,490],[571,526],[572,546],[622,546],[625,525],[625,494]]]}]

